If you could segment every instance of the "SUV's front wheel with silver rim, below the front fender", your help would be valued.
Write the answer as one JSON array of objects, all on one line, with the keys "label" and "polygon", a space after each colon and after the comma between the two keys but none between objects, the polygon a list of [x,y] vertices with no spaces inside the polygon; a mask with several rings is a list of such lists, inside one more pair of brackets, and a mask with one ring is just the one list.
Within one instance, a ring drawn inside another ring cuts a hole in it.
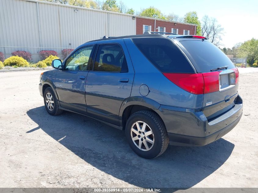
[{"label": "SUV's front wheel with silver rim, below the front fender", "polygon": [[63,110],[59,109],[56,95],[51,87],[45,89],[43,96],[45,108],[50,115],[60,115],[63,113]]}]

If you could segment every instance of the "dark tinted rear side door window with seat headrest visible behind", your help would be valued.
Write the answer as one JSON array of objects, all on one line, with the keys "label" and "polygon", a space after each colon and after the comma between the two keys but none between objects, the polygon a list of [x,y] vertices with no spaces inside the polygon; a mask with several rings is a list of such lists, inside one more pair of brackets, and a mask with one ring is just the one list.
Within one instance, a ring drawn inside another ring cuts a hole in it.
[{"label": "dark tinted rear side door window with seat headrest visible behind", "polygon": [[117,44],[100,45],[96,55],[94,71],[128,72],[122,48]]}]

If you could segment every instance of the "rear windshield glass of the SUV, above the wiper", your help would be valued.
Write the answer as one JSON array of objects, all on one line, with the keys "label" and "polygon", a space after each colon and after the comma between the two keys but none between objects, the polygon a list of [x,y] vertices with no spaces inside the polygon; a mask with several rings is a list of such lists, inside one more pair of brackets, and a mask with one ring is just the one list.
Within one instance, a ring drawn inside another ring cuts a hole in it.
[{"label": "rear windshield glass of the SUV, above the wiper", "polygon": [[211,69],[221,66],[229,66],[228,69],[235,68],[231,60],[209,41],[187,40],[180,43],[191,55],[189,58],[198,72],[210,72]]}]

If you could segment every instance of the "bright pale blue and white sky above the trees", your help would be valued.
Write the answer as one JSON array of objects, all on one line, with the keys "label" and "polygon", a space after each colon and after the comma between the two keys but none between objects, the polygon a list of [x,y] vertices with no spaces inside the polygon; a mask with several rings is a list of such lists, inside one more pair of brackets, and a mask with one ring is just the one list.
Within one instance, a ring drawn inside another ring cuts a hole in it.
[{"label": "bright pale blue and white sky above the trees", "polygon": [[154,6],[165,15],[175,13],[183,17],[189,11],[196,11],[199,20],[205,15],[216,18],[224,28],[221,48],[232,48],[238,42],[258,39],[258,0],[123,0],[123,2],[136,12]]}]

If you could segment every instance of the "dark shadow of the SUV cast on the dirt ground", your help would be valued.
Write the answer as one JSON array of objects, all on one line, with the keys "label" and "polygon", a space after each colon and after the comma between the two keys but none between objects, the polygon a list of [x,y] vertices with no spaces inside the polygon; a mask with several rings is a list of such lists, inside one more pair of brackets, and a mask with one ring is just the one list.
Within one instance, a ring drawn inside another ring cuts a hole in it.
[{"label": "dark shadow of the SUV cast on the dirt ground", "polygon": [[220,139],[203,147],[169,146],[155,159],[137,156],[124,131],[86,116],[64,111],[50,116],[44,106],[27,115],[60,144],[99,170],[139,187],[190,188],[216,171],[231,155],[234,144]]}]

